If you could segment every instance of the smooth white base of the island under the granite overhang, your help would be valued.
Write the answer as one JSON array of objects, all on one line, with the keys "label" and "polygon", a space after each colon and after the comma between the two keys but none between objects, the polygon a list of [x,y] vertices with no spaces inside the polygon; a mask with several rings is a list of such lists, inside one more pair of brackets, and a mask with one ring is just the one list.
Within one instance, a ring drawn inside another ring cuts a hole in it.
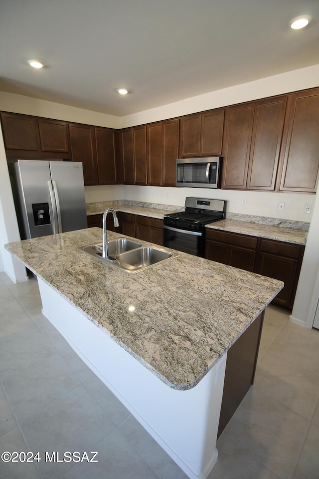
[{"label": "smooth white base of the island under the granite overhang", "polygon": [[43,314],[190,479],[217,461],[217,432],[227,353],[193,388],[178,390],[116,343],[38,278]]}]

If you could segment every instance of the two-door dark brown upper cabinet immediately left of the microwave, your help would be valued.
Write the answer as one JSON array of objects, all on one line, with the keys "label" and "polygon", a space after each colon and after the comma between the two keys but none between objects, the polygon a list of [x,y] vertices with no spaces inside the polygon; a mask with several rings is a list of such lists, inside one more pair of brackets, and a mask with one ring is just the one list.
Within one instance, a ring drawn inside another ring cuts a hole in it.
[{"label": "two-door dark brown upper cabinet immediately left of the microwave", "polygon": [[147,125],[149,185],[175,186],[178,137],[178,118]]}]

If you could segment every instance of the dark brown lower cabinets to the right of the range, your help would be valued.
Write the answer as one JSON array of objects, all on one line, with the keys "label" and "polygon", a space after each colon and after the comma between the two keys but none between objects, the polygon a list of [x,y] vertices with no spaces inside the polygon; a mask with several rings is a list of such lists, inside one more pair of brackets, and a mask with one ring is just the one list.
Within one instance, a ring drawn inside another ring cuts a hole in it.
[{"label": "dark brown lower cabinets to the right of the range", "polygon": [[272,304],[292,310],[305,246],[253,236],[206,230],[205,258],[263,276],[285,286]]}]

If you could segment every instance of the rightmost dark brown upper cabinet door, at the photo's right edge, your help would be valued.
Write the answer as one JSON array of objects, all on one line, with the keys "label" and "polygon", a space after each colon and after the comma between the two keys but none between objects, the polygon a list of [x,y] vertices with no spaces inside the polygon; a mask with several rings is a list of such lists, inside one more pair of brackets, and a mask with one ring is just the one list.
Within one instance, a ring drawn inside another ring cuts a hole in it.
[{"label": "rightmost dark brown upper cabinet door, at the photo's right edge", "polygon": [[319,171],[319,88],[288,96],[280,190],[316,192]]}]

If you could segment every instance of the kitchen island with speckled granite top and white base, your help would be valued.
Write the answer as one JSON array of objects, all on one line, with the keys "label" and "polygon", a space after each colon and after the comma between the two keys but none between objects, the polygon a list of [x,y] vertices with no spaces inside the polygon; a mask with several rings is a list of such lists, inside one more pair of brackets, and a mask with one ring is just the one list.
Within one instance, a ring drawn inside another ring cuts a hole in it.
[{"label": "kitchen island with speckled granite top and white base", "polygon": [[43,313],[81,358],[190,478],[205,478],[228,351],[283,283],[185,253],[128,274],[78,249],[101,240],[92,228],[6,249],[36,274]]}]

